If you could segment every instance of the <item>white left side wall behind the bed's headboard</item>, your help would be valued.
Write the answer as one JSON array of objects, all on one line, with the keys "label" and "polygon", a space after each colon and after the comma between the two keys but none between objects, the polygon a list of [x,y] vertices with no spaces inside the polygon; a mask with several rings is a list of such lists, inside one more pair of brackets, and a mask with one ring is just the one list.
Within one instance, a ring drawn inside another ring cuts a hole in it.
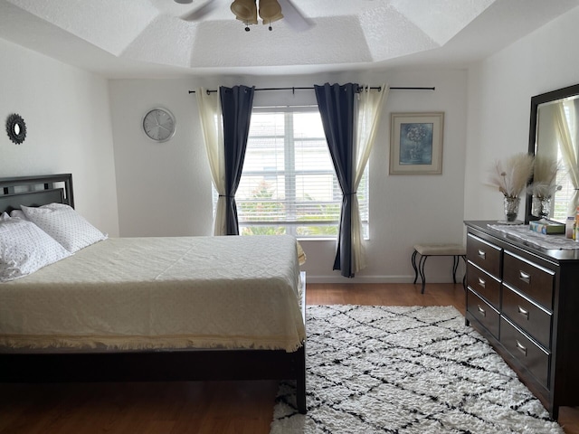
[{"label": "white left side wall behind the bed's headboard", "polygon": [[[108,83],[0,39],[0,176],[71,173],[75,205],[101,231],[119,234]],[[12,113],[27,135],[5,133]]]}]

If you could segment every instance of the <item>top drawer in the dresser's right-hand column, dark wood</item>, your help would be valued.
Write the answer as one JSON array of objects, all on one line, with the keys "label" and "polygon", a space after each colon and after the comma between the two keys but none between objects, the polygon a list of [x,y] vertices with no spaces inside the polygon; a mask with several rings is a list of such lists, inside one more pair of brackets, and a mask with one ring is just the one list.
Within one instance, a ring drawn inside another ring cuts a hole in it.
[{"label": "top drawer in the dresser's right-hand column, dark wood", "polygon": [[503,280],[537,303],[553,310],[555,272],[505,250]]}]

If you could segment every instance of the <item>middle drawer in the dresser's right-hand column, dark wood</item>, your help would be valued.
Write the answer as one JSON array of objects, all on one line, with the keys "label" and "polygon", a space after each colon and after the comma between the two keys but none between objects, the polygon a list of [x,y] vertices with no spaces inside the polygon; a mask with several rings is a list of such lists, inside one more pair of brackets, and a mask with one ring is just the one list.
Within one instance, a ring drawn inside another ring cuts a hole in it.
[{"label": "middle drawer in the dresser's right-hand column, dark wood", "polygon": [[539,344],[551,348],[552,315],[507,285],[503,286],[502,313],[533,336]]}]

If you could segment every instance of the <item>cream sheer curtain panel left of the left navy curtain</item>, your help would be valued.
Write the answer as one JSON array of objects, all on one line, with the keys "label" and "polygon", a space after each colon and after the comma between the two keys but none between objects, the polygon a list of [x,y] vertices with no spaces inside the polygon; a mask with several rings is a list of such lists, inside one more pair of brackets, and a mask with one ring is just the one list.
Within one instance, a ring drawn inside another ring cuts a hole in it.
[{"label": "cream sheer curtain panel left of the left navy curtain", "polygon": [[197,88],[195,97],[211,175],[215,190],[219,193],[215,209],[214,235],[225,235],[225,151],[219,90],[210,93],[204,88]]}]

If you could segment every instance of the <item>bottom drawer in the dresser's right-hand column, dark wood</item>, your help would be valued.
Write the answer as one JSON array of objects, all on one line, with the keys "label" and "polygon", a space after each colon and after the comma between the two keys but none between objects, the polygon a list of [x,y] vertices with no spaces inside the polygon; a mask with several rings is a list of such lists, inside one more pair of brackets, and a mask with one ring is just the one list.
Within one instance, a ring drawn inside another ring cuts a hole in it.
[{"label": "bottom drawer in the dresser's right-hand column, dark wood", "polygon": [[504,316],[500,318],[500,343],[522,363],[538,382],[549,388],[550,354],[522,333]]}]

